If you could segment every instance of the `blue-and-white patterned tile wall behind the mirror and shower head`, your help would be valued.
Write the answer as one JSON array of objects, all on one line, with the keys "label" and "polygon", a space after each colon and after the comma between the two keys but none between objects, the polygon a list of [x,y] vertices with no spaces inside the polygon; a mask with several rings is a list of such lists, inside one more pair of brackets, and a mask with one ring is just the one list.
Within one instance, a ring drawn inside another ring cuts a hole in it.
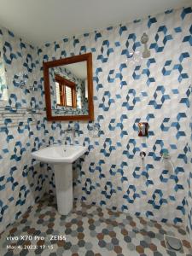
[{"label": "blue-and-white patterned tile wall behind the mirror and shower head", "polygon": [[[77,141],[89,145],[90,152],[76,168],[76,199],[184,224],[191,18],[190,7],[168,10],[47,43],[39,51],[44,61],[93,55],[95,121],[101,131],[91,137],[91,124],[79,122]],[[140,59],[143,32],[149,36],[148,59]],[[148,121],[148,138],[137,136],[139,121]],[[58,133],[61,127],[55,128]],[[161,159],[165,149],[172,164]],[[141,150],[147,153],[144,169]],[[49,178],[53,180],[51,168]]]}]

